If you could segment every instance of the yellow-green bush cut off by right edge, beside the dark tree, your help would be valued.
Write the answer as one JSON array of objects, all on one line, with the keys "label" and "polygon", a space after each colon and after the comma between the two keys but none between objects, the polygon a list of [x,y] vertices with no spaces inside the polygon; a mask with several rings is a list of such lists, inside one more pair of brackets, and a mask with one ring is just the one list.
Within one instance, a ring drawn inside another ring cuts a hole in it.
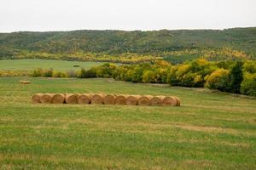
[{"label": "yellow-green bush cut off by right edge, beside the dark tree", "polygon": [[241,82],[241,94],[256,96],[256,73],[246,73]]}]

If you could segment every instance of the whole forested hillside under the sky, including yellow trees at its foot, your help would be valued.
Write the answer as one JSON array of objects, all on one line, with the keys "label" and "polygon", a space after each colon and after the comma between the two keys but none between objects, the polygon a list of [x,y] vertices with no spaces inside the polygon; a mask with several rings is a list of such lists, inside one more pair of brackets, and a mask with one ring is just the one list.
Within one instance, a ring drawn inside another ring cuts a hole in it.
[{"label": "whole forested hillside under the sky, including yellow trees at its foot", "polygon": [[[139,62],[255,59],[256,27],[178,31],[50,31],[0,34],[0,58]],[[122,58],[122,59],[120,59]]]}]

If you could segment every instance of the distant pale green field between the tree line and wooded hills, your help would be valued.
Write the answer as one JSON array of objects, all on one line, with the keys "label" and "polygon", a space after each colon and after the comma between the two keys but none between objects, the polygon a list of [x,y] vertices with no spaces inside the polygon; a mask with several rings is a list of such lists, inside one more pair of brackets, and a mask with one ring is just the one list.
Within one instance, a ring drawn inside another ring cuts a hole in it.
[{"label": "distant pale green field between the tree line and wooded hills", "polygon": [[[80,65],[80,67],[73,67],[73,65]],[[90,69],[90,67],[96,65],[102,65],[102,62],[64,61],[57,59],[0,59],[0,70],[11,71],[33,71],[37,68],[53,68],[56,71],[77,71],[81,68]]]}]

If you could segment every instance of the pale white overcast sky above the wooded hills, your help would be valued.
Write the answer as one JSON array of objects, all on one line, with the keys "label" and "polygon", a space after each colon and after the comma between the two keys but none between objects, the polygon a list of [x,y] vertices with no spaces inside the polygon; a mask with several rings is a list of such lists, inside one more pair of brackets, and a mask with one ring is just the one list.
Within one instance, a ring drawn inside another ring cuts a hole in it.
[{"label": "pale white overcast sky above the wooded hills", "polygon": [[256,0],[0,0],[0,32],[256,26]]}]

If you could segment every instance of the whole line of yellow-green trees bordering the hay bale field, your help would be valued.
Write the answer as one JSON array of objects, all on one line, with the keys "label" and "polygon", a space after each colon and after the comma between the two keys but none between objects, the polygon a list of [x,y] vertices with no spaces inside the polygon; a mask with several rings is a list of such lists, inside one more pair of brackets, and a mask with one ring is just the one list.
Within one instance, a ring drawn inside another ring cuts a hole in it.
[{"label": "whole line of yellow-green trees bordering the hay bale field", "polygon": [[88,70],[61,72],[37,69],[33,77],[113,78],[125,82],[166,83],[256,96],[256,61],[195,59],[172,65],[164,60],[134,65],[103,64]]}]

